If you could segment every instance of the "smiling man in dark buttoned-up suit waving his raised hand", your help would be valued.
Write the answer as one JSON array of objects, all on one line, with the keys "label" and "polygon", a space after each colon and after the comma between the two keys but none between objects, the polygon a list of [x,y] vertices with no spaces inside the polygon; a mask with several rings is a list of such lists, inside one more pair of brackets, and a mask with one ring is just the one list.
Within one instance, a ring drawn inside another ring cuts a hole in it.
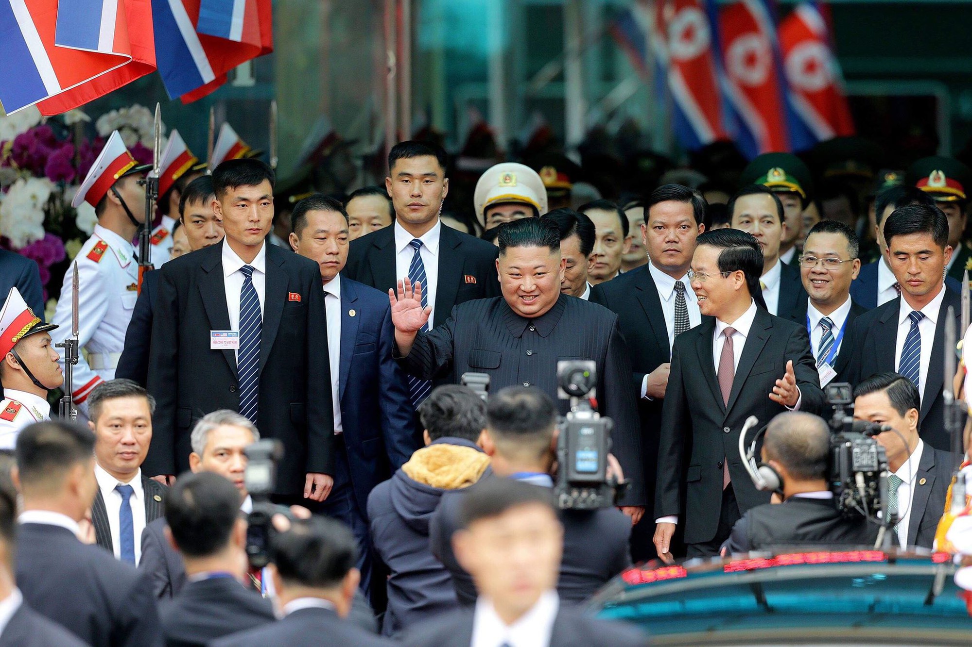
[{"label": "smiling man in dark buttoned-up suit waving his raised hand", "polygon": [[[597,365],[597,399],[614,421],[612,453],[632,482],[624,501],[644,501],[641,429],[631,385],[631,363],[607,308],[560,292],[564,259],[560,233],[548,221],[524,219],[503,225],[497,267],[503,297],[456,306],[446,323],[425,331],[429,308],[422,290],[405,282],[392,295],[392,323],[405,372],[431,380],[466,372],[486,373],[490,388],[535,386],[557,400],[557,361],[590,359]],[[569,409],[559,400],[561,413]],[[640,518],[641,511],[628,509]]]}]

